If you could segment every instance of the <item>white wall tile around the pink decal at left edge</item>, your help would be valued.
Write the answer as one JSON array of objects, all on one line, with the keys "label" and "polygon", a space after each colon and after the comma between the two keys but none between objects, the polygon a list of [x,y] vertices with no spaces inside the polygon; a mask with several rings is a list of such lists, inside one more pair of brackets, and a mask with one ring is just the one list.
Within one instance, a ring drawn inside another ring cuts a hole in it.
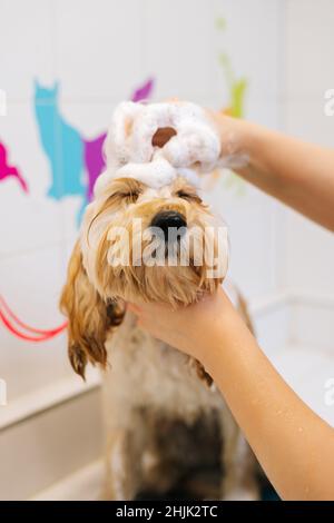
[{"label": "white wall tile around the pink decal at left edge", "polygon": [[14,167],[27,184],[26,193],[18,177],[1,180],[0,255],[60,241],[63,235],[61,209],[56,200],[47,198],[51,171],[41,148],[32,105],[9,103],[8,116],[0,124],[0,142],[7,150],[7,164]]}]

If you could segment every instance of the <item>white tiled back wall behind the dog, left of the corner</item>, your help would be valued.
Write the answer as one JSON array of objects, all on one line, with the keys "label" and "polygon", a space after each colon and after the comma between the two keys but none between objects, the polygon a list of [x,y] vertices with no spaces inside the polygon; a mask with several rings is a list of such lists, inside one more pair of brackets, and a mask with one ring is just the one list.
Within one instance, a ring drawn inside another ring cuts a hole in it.
[{"label": "white tiled back wall behind the dog, left of the corner", "polygon": [[[115,103],[151,76],[155,99],[177,95],[224,107],[224,51],[248,79],[246,117],[279,127],[283,7],[279,0],[0,0],[0,88],[8,95],[0,141],[30,189],[27,196],[13,179],[0,184],[0,292],[21,319],[41,328],[61,322],[57,302],[79,206],[77,197],[46,198],[51,175],[33,114],[35,79],[59,81],[61,114],[92,138],[107,128]],[[208,198],[230,227],[233,277],[249,298],[273,293],[281,266],[276,204],[246,186],[242,194],[226,189],[224,179]],[[65,336],[33,346],[1,327],[0,358],[9,403],[71,375]]]}]

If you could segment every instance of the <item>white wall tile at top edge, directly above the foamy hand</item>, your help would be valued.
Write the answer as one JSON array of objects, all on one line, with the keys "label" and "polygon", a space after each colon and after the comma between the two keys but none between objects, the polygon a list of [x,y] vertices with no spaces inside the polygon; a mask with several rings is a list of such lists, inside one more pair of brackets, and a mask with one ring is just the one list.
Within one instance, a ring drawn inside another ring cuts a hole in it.
[{"label": "white wall tile at top edge, directly above the foamy hand", "polygon": [[146,0],[144,70],[157,78],[158,99],[203,101],[213,92],[214,21],[209,2]]}]

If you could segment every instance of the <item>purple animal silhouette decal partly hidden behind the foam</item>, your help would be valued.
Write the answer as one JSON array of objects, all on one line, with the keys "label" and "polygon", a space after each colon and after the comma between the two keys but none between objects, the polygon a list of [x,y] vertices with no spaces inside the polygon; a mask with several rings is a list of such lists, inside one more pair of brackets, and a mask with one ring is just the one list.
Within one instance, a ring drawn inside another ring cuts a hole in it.
[{"label": "purple animal silhouette decal partly hidden behind the foam", "polygon": [[[132,101],[140,101],[147,100],[153,91],[154,88],[154,79],[150,78],[146,81],[143,86],[136,89],[132,92],[131,100]],[[105,159],[102,152],[102,146],[107,134],[102,132],[97,138],[92,140],[86,140],[82,138],[84,141],[84,158],[85,158],[85,166],[88,172],[88,186],[87,186],[87,200],[90,201],[92,198],[92,189],[96,182],[97,177],[102,172],[105,168]]]}]

